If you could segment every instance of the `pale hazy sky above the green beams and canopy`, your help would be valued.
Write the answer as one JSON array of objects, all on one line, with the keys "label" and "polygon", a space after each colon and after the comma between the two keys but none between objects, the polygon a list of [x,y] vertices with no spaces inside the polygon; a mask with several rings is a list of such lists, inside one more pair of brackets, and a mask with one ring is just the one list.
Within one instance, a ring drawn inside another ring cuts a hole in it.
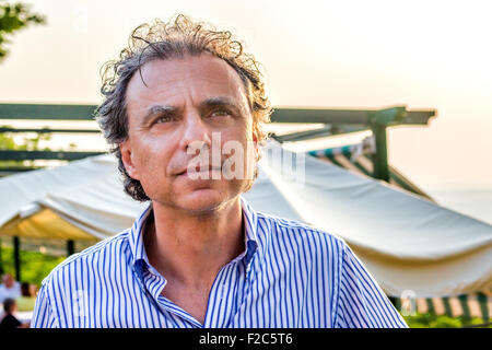
[{"label": "pale hazy sky above the green beams and canopy", "polygon": [[424,190],[489,190],[492,212],[490,1],[25,2],[47,25],[12,38],[0,103],[97,104],[130,32],[186,13],[246,43],[273,106],[436,109],[388,130],[390,163]]}]

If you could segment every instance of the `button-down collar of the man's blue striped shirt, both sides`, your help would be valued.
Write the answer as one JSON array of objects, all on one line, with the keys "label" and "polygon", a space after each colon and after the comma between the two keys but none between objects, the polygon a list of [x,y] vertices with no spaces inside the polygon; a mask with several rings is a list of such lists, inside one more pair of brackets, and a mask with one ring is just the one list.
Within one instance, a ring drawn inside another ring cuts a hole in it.
[{"label": "button-down collar of the man's blue striped shirt, both sides", "polygon": [[[245,234],[245,245],[246,250],[242,253],[236,259],[245,258],[247,266],[247,271],[251,268],[251,260],[258,250],[258,215],[257,212],[251,208],[247,200],[239,196],[241,206],[243,210],[244,225],[246,229]],[[152,217],[152,203],[150,203],[134,221],[129,233],[129,243],[132,254],[133,269],[138,277],[143,283],[143,272],[144,269],[155,270],[149,262],[149,258],[145,253],[145,247],[143,244],[143,231],[145,228],[147,220]],[[154,271],[156,273],[156,271]]]}]

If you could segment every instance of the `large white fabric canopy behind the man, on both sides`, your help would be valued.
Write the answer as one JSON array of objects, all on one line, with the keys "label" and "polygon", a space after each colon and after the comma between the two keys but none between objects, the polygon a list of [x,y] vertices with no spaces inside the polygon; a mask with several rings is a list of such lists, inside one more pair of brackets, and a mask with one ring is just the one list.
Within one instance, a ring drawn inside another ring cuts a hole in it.
[{"label": "large white fabric canopy behind the man, on both sides", "polygon": [[[386,293],[491,289],[492,225],[311,155],[292,176],[272,154],[293,153],[273,140],[268,149],[243,196],[257,211],[342,237]],[[124,194],[113,155],[2,178],[0,194],[0,235],[101,240],[130,226],[145,206]]]}]

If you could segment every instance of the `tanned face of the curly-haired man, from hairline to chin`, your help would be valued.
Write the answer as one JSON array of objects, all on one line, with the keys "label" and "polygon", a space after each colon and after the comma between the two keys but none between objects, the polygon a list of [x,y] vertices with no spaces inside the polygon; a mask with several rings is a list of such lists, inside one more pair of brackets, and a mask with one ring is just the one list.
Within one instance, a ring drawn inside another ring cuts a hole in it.
[{"label": "tanned face of the curly-haired man, from hairline to chin", "polygon": [[[141,75],[143,81],[137,72],[128,84],[129,137],[120,150],[128,174],[140,180],[149,198],[166,207],[204,212],[243,192],[251,182],[257,139],[237,72],[202,54],[153,60],[142,67]],[[242,168],[243,175],[233,178],[223,175],[238,150],[227,150],[227,144],[243,148],[241,165],[232,166],[236,175]],[[201,145],[204,152],[199,153]],[[206,173],[190,174],[187,170],[197,164],[198,154]],[[222,170],[209,172],[209,165]]]}]

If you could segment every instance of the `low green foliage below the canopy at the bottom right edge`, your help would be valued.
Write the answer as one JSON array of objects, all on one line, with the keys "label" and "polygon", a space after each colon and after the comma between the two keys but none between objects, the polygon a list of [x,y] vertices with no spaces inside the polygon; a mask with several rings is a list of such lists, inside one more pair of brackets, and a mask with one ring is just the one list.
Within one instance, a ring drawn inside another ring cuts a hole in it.
[{"label": "low green foliage below the canopy at the bottom right edge", "polygon": [[[478,317],[466,319],[464,317],[449,317],[431,313],[403,316],[403,318],[410,328],[462,328],[485,323]],[[492,325],[487,326],[487,328],[492,328]]]}]

